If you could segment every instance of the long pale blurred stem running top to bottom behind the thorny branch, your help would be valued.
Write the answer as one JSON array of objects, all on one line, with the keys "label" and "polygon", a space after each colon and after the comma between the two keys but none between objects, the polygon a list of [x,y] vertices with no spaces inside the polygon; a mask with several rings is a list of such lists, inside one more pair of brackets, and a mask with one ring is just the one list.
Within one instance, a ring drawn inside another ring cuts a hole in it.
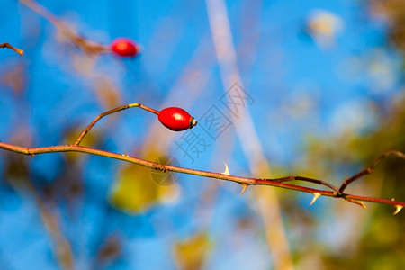
[{"label": "long pale blurred stem running top to bottom behind the thorny branch", "polygon": [[[261,1],[255,1],[256,4]],[[233,43],[233,36],[229,22],[227,4],[225,0],[206,0],[208,22],[215,53],[220,67],[220,77],[223,89],[229,89],[236,82],[242,84],[242,77],[238,69],[238,54]],[[255,4],[250,4],[255,5]],[[250,6],[249,6],[250,9]],[[232,98],[226,94],[228,103]],[[256,127],[247,107],[235,115],[231,113],[232,122],[237,132],[238,141],[247,158],[251,175],[271,175],[271,169],[266,161],[263,148],[258,139]],[[242,193],[247,185],[243,186]],[[273,190],[257,190],[254,194],[264,222],[264,232],[267,244],[274,262],[275,270],[293,270],[293,258],[288,247],[288,240],[284,229],[282,211],[277,193]]]}]

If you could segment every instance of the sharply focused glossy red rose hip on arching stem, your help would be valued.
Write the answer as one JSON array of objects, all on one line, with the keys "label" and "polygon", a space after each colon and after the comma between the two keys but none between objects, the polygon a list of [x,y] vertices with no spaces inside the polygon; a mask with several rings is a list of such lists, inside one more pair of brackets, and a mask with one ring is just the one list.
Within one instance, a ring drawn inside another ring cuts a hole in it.
[{"label": "sharply focused glossy red rose hip on arching stem", "polygon": [[193,128],[197,121],[181,108],[170,107],[159,112],[159,121],[170,130],[182,131]]}]

